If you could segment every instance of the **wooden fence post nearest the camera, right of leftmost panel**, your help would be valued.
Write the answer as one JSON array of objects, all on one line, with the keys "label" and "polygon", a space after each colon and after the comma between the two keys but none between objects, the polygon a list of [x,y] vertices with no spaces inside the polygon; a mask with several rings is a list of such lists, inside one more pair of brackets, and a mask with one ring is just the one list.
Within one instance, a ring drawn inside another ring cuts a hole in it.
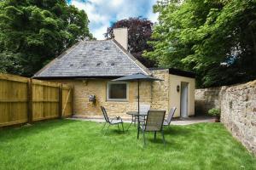
[{"label": "wooden fence post nearest the camera, right of leftmost panel", "polygon": [[32,78],[28,79],[27,82],[27,122],[33,122],[33,88]]}]

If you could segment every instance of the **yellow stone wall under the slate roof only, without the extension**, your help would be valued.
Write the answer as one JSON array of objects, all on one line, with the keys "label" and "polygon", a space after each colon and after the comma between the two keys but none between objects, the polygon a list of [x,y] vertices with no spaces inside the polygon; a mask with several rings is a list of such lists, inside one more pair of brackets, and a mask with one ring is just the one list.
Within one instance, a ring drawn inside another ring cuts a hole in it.
[{"label": "yellow stone wall under the slate roof only, without the extension", "polygon": [[[101,105],[109,115],[130,118],[127,111],[137,111],[137,82],[128,83],[127,101],[109,101],[107,99],[107,85],[109,79],[86,79],[86,80],[57,80],[74,87],[73,114],[84,117],[102,117]],[[151,82],[140,82],[140,104],[151,103]],[[96,95],[96,102],[89,101],[90,94]]]}]

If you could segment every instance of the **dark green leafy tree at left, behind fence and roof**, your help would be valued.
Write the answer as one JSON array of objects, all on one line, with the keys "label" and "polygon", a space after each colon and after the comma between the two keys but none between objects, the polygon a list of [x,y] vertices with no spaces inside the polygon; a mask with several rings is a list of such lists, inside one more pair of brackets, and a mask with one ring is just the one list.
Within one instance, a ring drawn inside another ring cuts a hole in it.
[{"label": "dark green leafy tree at left, behind fence and roof", "polygon": [[0,71],[31,77],[75,42],[91,38],[84,10],[65,0],[0,1]]}]

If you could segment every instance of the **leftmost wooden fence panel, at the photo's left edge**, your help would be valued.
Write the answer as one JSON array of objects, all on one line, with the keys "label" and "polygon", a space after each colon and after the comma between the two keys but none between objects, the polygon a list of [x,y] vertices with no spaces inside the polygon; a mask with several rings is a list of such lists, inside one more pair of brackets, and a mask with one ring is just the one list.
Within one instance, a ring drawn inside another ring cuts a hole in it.
[{"label": "leftmost wooden fence panel, at the photo's left edge", "polygon": [[0,74],[0,125],[27,122],[27,81]]}]

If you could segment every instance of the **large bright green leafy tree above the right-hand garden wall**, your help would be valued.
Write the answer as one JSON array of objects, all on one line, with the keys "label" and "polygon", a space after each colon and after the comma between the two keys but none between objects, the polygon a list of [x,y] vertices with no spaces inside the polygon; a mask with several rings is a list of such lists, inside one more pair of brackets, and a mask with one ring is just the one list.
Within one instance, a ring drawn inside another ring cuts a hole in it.
[{"label": "large bright green leafy tree above the right-hand garden wall", "polygon": [[144,55],[158,65],[195,71],[198,87],[256,78],[256,2],[171,0],[157,3],[159,25]]}]

